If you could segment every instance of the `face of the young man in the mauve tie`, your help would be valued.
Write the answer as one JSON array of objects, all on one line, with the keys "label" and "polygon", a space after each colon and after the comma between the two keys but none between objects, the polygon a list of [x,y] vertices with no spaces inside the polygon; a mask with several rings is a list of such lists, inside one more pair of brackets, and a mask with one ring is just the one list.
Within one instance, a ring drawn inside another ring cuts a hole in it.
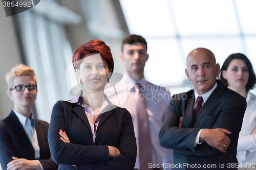
[{"label": "face of the young man in the mauve tie", "polygon": [[141,42],[123,44],[123,53],[120,54],[120,59],[124,62],[127,72],[143,72],[148,59],[146,51],[146,45]]}]

